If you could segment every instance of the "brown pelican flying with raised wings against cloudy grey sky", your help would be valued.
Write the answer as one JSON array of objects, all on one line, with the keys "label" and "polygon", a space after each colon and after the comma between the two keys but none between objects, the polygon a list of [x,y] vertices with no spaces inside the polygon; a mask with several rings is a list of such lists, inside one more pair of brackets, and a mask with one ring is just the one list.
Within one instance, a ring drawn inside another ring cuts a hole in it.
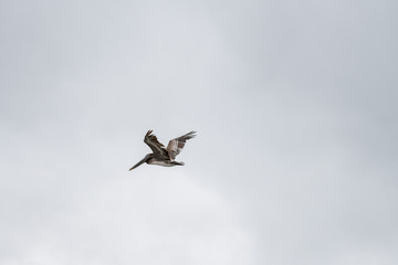
[{"label": "brown pelican flying with raised wings against cloudy grey sky", "polygon": [[144,142],[149,146],[153,152],[146,155],[129,170],[133,170],[145,162],[148,165],[158,165],[163,167],[184,166],[184,162],[177,162],[175,161],[175,158],[182,150],[185,142],[196,136],[196,131],[192,130],[184,136],[170,140],[166,148],[157,140],[156,136],[151,132],[153,130],[148,130],[148,132],[146,132]]}]

